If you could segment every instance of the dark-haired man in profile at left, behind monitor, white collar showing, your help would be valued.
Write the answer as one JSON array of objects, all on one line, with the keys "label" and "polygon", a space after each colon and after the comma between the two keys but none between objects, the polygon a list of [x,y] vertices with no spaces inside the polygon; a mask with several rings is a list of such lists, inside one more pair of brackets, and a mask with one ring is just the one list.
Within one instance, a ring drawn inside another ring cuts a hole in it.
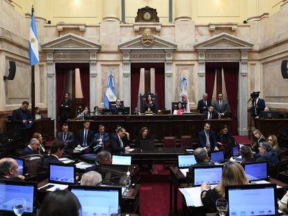
[{"label": "dark-haired man in profile at left, behind monitor, white collar showing", "polygon": [[59,158],[64,153],[65,144],[59,140],[55,140],[51,145],[51,153],[50,155],[44,159],[42,163],[42,167],[47,168],[49,167],[49,163],[63,163]]}]

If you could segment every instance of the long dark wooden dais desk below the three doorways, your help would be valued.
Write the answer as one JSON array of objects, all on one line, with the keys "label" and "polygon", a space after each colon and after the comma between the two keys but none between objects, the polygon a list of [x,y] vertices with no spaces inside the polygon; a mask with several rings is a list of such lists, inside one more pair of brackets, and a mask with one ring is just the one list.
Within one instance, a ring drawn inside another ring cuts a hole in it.
[{"label": "long dark wooden dais desk below the three doorways", "polygon": [[[215,133],[221,131],[224,125],[231,128],[231,119],[205,120],[205,115],[97,115],[90,119],[90,128],[98,131],[98,125],[103,124],[106,132],[113,132],[115,125],[120,124],[126,128],[133,140],[143,126],[150,129],[152,138],[163,141],[164,136],[175,136],[180,139],[182,135],[192,135],[193,141],[198,140],[198,132],[203,129],[205,122],[211,123],[211,130]],[[68,120],[69,131],[77,134],[83,128],[83,120]]]}]

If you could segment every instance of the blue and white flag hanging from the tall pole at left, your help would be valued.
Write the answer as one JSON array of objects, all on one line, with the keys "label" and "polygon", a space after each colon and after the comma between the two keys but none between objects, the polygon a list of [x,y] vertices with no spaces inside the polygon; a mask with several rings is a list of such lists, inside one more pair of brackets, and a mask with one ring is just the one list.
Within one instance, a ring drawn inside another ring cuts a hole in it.
[{"label": "blue and white flag hanging from the tall pole at left", "polygon": [[30,59],[30,65],[36,65],[37,63],[39,63],[38,35],[34,14],[32,15],[30,26],[29,59]]}]

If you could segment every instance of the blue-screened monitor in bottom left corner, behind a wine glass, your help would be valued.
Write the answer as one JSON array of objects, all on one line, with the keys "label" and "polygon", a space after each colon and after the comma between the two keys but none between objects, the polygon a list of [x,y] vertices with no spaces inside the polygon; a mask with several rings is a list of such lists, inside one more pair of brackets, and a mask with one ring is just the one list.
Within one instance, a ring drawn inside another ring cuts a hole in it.
[{"label": "blue-screened monitor in bottom left corner, behind a wine glass", "polygon": [[15,199],[25,199],[24,215],[35,215],[37,183],[29,181],[0,181],[0,215],[13,213]]}]

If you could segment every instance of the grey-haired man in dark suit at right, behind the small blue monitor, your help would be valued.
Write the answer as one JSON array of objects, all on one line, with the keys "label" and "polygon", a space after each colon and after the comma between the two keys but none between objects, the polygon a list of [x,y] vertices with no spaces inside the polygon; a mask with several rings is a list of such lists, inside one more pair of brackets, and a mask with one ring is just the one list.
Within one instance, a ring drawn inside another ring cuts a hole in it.
[{"label": "grey-haired man in dark suit at right, behind the small blue monitor", "polygon": [[267,161],[269,167],[279,163],[269,142],[260,142],[258,149],[261,157],[258,158],[257,161]]}]

